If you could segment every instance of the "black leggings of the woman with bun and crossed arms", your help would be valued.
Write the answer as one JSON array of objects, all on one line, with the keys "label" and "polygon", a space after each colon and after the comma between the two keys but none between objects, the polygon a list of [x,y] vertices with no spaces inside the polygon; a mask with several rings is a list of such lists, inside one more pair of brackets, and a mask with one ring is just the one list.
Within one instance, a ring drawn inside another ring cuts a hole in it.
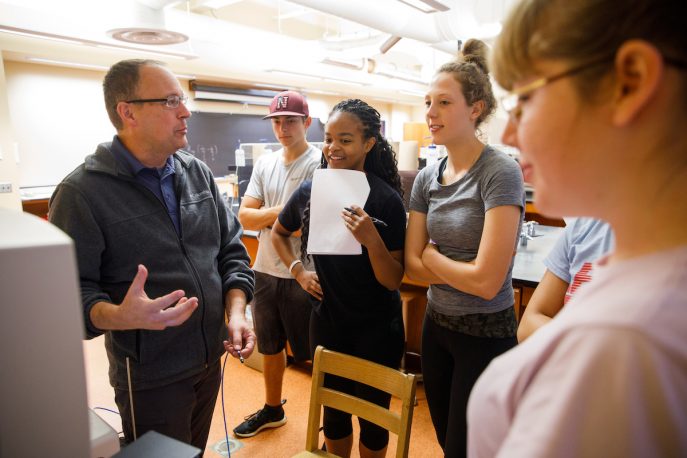
[{"label": "black leggings of the woman with bun and crossed arms", "polygon": [[425,315],[422,377],[429,413],[445,456],[466,456],[470,391],[489,362],[516,344],[515,337],[474,337],[451,331]]}]

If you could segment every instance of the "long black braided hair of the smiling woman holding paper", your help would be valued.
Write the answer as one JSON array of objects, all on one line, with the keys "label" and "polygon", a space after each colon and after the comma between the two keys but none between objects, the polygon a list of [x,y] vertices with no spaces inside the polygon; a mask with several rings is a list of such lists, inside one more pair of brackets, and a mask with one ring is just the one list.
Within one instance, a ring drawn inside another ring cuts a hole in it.
[{"label": "long black braided hair of the smiling woman holding paper", "polygon": [[[398,175],[398,161],[391,144],[382,135],[382,118],[377,110],[360,99],[347,99],[337,103],[329,117],[335,113],[350,113],[363,125],[363,138],[374,138],[375,144],[365,157],[363,169],[377,175],[391,186],[403,198],[401,177]],[[322,155],[320,168],[327,168],[327,160]],[[307,258],[308,234],[310,232],[310,201],[303,211],[303,229],[301,232],[301,259]]]}]

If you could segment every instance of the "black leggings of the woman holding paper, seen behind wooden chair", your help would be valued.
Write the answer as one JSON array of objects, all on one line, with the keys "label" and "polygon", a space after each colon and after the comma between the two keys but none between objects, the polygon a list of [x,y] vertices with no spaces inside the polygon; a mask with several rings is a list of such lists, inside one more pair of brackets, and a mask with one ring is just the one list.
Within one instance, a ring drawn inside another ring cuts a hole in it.
[{"label": "black leggings of the woman holding paper, seen behind wooden chair", "polygon": [[[327,349],[374,361],[398,369],[403,355],[403,318],[397,317],[377,327],[351,330],[337,326],[313,311],[310,317],[310,344],[313,354],[318,345]],[[324,385],[360,397],[374,404],[389,407],[391,395],[370,386],[340,377],[325,376]],[[358,418],[360,442],[370,450],[381,450],[389,443],[389,432],[367,420]],[[324,435],[337,440],[353,433],[351,414],[329,407],[324,408]]]}]

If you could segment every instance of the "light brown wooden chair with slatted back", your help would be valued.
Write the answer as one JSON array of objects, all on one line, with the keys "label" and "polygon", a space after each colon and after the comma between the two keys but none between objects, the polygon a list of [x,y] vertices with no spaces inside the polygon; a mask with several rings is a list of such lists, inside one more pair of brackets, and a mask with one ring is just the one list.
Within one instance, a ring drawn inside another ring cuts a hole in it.
[{"label": "light brown wooden chair with slatted back", "polygon": [[[333,374],[370,385],[401,399],[400,412],[380,407],[355,396],[323,386],[324,375]],[[415,375],[391,369],[355,356],[338,353],[318,346],[315,350],[310,391],[310,412],[305,440],[306,451],[295,457],[333,457],[319,449],[319,430],[322,407],[333,407],[375,423],[396,434],[396,456],[407,457],[410,427],[415,404]]]}]

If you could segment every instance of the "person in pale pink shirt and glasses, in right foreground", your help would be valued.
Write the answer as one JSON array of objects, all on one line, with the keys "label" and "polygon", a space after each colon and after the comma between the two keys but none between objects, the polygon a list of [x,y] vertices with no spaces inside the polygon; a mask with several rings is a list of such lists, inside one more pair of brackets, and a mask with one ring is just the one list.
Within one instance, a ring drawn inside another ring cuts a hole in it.
[{"label": "person in pale pink shirt and glasses, in right foreground", "polygon": [[685,18],[677,0],[524,0],[504,23],[503,140],[540,211],[603,219],[615,248],[483,372],[470,456],[687,456]]}]

